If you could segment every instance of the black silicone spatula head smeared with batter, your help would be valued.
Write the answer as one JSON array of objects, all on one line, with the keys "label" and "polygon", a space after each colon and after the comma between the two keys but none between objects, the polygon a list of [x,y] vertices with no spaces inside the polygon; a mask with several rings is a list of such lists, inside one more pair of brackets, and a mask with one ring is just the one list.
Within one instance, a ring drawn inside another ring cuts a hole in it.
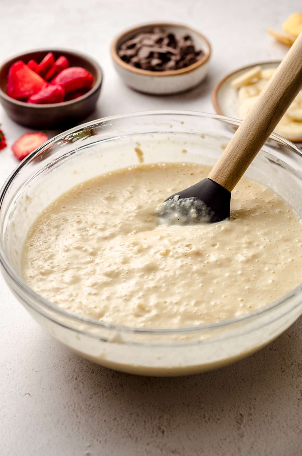
[{"label": "black silicone spatula head smeared with batter", "polygon": [[229,190],[207,177],[168,197],[157,216],[167,225],[221,222],[229,218],[230,201]]}]

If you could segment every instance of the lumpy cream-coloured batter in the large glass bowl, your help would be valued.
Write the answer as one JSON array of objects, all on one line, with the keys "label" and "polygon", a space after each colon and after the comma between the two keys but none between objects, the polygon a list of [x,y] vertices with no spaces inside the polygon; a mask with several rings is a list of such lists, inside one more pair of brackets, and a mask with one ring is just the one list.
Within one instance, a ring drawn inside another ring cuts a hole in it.
[{"label": "lumpy cream-coloured batter in the large glass bowl", "polygon": [[208,172],[133,166],[73,188],[33,225],[24,279],[68,311],[136,327],[222,321],[280,298],[301,282],[302,223],[268,188],[241,179],[230,221],[159,225],[167,195]]}]

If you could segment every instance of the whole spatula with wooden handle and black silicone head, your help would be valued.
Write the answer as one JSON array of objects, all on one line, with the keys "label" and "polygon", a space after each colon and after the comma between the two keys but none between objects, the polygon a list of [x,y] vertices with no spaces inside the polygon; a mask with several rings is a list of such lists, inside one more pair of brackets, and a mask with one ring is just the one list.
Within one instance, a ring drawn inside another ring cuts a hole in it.
[{"label": "whole spatula with wooden handle and black silicone head", "polygon": [[207,179],[174,193],[157,208],[163,223],[229,218],[231,191],[302,87],[302,32],[224,149]]}]

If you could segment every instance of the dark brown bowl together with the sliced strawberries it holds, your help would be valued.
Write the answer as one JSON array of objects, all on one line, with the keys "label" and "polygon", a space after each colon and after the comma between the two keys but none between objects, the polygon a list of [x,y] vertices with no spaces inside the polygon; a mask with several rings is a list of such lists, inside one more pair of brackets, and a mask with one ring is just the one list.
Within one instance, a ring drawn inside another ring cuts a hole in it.
[{"label": "dark brown bowl together with the sliced strawberries it holds", "polygon": [[[27,62],[30,62],[29,66]],[[36,64],[39,71],[42,67],[41,74],[34,71]],[[43,71],[46,71],[45,75]],[[80,52],[66,50],[65,53],[63,49],[38,49],[19,54],[4,62],[2,67],[0,65],[0,73],[2,84],[8,80],[4,90],[3,85],[0,87],[0,104],[11,119],[30,127],[31,131],[62,130],[85,119],[95,109],[103,76],[101,67],[92,58]],[[62,84],[57,77],[62,78]],[[62,89],[41,92],[42,88],[55,85],[67,88],[63,99]],[[37,97],[31,97],[38,92],[41,93]]]}]

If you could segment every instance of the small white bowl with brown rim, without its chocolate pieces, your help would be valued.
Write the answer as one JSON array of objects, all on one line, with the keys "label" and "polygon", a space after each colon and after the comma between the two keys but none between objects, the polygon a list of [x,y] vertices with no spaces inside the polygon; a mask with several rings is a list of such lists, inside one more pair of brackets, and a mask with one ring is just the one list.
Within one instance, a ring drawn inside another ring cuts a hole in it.
[{"label": "small white bowl with brown rim, without its chocolate pieces", "polygon": [[[162,27],[171,31],[175,36],[191,35],[197,50],[202,50],[204,56],[198,62],[186,68],[170,71],[148,71],[132,67],[118,55],[120,45],[140,32],[149,32],[154,27]],[[117,73],[124,82],[139,92],[153,95],[170,95],[185,92],[200,84],[208,74],[208,63],[211,55],[211,45],[198,31],[181,24],[156,23],[137,26],[124,31],[111,44],[111,57]]]}]

